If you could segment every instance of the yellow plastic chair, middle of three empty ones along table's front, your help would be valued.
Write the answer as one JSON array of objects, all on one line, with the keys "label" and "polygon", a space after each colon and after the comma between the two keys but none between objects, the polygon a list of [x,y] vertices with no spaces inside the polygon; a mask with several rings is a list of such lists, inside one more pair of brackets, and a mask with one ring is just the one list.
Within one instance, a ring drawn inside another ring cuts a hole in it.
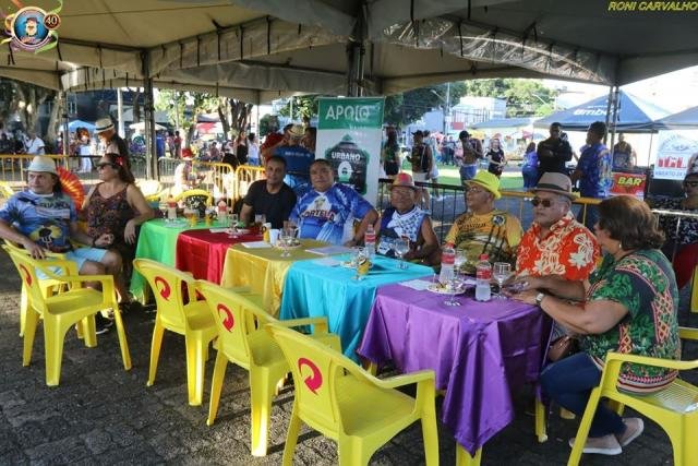
[{"label": "yellow plastic chair, middle of three empty ones along table's front", "polygon": [[218,330],[218,354],[210,387],[210,406],[206,423],[213,426],[218,413],[220,390],[226,367],[231,361],[250,372],[250,398],[252,410],[252,455],[266,455],[272,399],[279,382],[290,369],[279,347],[262,328],[266,323],[282,326],[313,325],[317,338],[324,345],[340,348],[339,336],[327,333],[325,318],[308,318],[277,321],[267,314],[256,295],[241,295],[210,282],[196,282],[196,289],[204,296]]}]

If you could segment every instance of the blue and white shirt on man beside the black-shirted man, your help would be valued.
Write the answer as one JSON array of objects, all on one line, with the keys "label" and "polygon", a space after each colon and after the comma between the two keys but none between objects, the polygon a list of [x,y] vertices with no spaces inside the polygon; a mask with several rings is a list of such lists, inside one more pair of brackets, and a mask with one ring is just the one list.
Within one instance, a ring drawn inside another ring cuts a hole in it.
[{"label": "blue and white shirt on man beside the black-shirted man", "polygon": [[301,196],[290,219],[300,225],[301,238],[344,244],[353,237],[353,220],[372,208],[353,188],[335,183],[326,192],[310,190]]}]

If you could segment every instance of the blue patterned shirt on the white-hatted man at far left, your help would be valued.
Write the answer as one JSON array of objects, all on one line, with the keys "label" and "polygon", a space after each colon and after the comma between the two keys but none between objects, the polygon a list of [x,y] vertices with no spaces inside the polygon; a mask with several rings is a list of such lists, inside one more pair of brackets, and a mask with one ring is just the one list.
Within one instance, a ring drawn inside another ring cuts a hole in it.
[{"label": "blue patterned shirt on the white-hatted man at far left", "polygon": [[22,235],[53,252],[70,248],[70,224],[76,222],[75,205],[65,194],[14,194],[0,208],[0,218]]}]

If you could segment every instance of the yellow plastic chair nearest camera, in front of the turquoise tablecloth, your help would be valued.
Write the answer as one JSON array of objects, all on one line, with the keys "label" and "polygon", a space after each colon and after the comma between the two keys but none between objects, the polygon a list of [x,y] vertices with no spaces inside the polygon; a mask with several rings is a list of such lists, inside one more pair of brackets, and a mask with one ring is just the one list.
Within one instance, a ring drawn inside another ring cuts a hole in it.
[{"label": "yellow plastic chair nearest camera, in front of the turquoise tablecloth", "polygon": [[[340,465],[365,465],[399,431],[421,420],[426,465],[438,464],[434,371],[381,380],[341,353],[277,324],[266,330],[293,373],[296,396],[284,465],[293,463],[301,421],[337,441]],[[394,390],[417,384],[417,399]]]}]

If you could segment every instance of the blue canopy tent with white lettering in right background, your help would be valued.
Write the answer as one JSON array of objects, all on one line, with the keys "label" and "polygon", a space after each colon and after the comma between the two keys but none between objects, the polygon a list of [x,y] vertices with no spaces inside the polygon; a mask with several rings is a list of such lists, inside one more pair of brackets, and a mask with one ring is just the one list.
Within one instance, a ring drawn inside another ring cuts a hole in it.
[{"label": "blue canopy tent with white lettering in right background", "polygon": [[[654,121],[666,117],[669,111],[624,91],[618,92],[618,118],[616,132],[647,133],[657,132]],[[557,111],[533,123],[534,128],[549,128],[558,121],[563,130],[587,131],[594,121],[605,121],[609,108],[609,96],[594,98],[586,104],[567,110]]]}]

